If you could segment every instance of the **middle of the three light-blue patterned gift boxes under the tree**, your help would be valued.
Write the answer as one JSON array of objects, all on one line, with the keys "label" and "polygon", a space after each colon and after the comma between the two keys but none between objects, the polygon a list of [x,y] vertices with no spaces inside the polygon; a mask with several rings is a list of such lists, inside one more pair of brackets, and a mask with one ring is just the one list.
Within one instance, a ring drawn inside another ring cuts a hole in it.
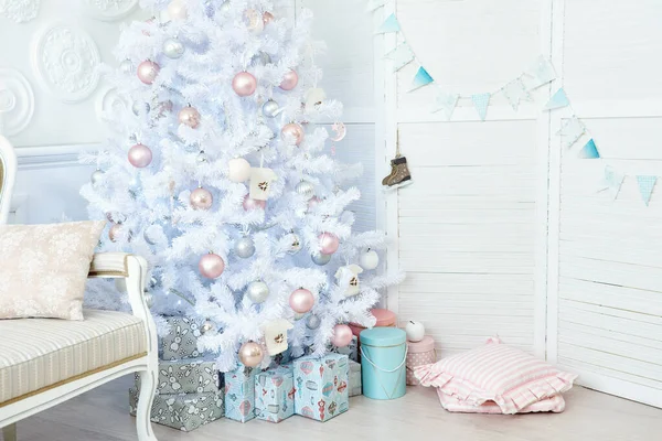
[{"label": "middle of the three light-blue patterned gift boxes under the tree", "polygon": [[255,377],[255,413],[260,420],[280,422],[295,415],[295,372],[282,365]]}]

